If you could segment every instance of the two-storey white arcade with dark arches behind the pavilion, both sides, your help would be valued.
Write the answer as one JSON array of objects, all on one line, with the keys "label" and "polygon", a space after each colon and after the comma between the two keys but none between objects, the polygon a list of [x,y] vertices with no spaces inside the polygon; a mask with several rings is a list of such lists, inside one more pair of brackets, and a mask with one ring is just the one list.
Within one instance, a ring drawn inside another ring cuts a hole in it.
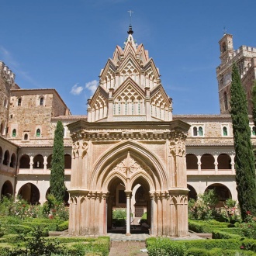
[{"label": "two-storey white arcade with dark arches behind the pavilion, both sides", "polygon": [[[12,149],[0,147],[0,167],[2,170],[21,175],[42,174],[50,175],[51,154],[22,154],[17,157],[16,152]],[[234,181],[234,154],[192,154],[186,155],[187,175],[189,198],[195,199],[197,195],[202,194],[207,189],[216,189],[220,198],[220,203],[228,198],[237,199],[236,184]],[[65,174],[71,172],[71,155],[64,156]],[[221,175],[221,178],[217,178]],[[19,182],[18,182],[19,183]],[[0,184],[1,195],[13,195],[14,193],[14,178],[5,178]],[[34,202],[40,198],[43,202],[46,198],[46,189],[43,192],[40,185],[30,181],[27,176],[27,182],[18,185],[17,195],[22,195],[29,199],[29,202]],[[34,195],[35,194],[35,195]],[[40,195],[42,194],[42,195]],[[68,195],[67,195],[68,198]]]}]

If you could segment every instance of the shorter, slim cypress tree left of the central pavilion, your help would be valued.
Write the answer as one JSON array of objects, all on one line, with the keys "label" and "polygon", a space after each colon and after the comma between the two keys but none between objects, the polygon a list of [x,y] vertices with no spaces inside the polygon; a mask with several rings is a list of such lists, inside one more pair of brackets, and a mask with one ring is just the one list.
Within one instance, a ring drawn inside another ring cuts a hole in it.
[{"label": "shorter, slim cypress tree left of the central pavilion", "polygon": [[64,184],[64,141],[63,141],[63,124],[57,122],[54,133],[54,148],[50,169],[50,193],[54,195],[58,202],[64,201],[65,184]]}]

